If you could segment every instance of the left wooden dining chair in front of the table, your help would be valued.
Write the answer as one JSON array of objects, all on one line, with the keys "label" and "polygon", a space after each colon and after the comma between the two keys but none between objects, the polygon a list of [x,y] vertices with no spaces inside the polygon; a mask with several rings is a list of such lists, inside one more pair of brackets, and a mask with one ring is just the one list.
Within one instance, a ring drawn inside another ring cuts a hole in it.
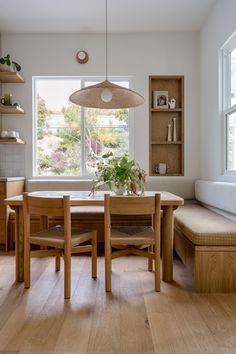
[{"label": "left wooden dining chair in front of the table", "polygon": [[[96,230],[71,229],[70,196],[45,198],[23,193],[24,215],[24,276],[25,288],[30,287],[30,257],[56,256],[56,270],[60,270],[60,256],[64,256],[64,297],[71,293],[71,253],[92,252],[92,277],[97,276],[97,232]],[[39,232],[30,233],[30,216],[40,215]],[[63,217],[64,225],[49,228],[48,217]],[[90,244],[81,245],[91,241]],[[31,245],[41,250],[31,251]],[[47,249],[49,248],[50,249]]]}]

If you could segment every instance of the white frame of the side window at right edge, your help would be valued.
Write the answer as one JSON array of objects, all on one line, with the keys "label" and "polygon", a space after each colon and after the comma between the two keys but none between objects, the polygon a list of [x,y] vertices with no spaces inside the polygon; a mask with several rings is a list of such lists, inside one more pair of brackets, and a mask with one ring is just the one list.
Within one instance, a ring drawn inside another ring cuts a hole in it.
[{"label": "white frame of the side window at right edge", "polygon": [[236,177],[235,170],[228,170],[228,117],[236,112],[236,104],[231,106],[231,59],[230,55],[236,49],[236,32],[222,48],[222,117],[224,126],[224,175]]}]

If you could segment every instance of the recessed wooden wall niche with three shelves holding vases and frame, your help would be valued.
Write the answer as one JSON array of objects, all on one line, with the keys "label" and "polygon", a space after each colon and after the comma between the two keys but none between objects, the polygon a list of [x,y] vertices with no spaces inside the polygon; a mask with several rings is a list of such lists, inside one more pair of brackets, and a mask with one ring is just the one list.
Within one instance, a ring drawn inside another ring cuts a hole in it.
[{"label": "recessed wooden wall niche with three shelves holding vases and frame", "polygon": [[159,163],[166,164],[165,176],[184,175],[184,76],[149,76],[150,176],[163,176]]}]

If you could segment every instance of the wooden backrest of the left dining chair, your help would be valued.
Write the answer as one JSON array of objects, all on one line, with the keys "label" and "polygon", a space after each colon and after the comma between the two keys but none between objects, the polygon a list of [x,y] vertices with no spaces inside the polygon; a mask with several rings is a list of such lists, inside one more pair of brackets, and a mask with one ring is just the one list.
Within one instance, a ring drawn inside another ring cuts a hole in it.
[{"label": "wooden backrest of the left dining chair", "polygon": [[[24,226],[30,227],[30,216],[39,215],[40,217],[62,216],[64,219],[64,233],[70,233],[70,196],[63,197],[40,197],[23,193],[23,214]],[[48,228],[48,223],[42,222],[41,228]]]}]

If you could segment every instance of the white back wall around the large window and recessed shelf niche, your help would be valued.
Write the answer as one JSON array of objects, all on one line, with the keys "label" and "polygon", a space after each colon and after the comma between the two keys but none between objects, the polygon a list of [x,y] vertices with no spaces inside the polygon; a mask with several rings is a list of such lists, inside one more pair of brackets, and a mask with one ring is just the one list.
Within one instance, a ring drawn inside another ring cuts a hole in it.
[{"label": "white back wall around the large window and recessed shelf niche", "polygon": [[[184,197],[194,196],[199,177],[199,34],[115,34],[109,35],[108,74],[132,76],[133,88],[145,97],[134,109],[135,159],[148,171],[149,117],[148,76],[185,76],[185,176],[152,177],[149,188],[167,189]],[[84,49],[89,62],[79,65],[75,53]],[[4,84],[14,101],[25,109],[24,116],[3,116],[4,130],[19,131],[26,141],[26,177],[32,171],[32,76],[105,74],[104,35],[80,34],[2,34],[2,53],[10,53],[22,65],[26,83]]]}]

